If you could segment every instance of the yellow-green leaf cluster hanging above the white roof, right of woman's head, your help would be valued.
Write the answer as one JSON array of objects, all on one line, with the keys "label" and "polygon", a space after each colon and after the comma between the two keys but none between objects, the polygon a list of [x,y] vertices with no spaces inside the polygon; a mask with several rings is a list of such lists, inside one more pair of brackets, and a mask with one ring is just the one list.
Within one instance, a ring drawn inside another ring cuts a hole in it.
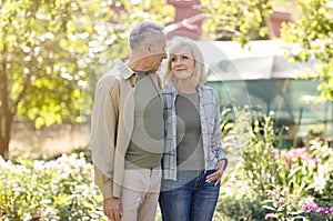
[{"label": "yellow-green leaf cluster hanging above the white roof, right of woman's head", "polygon": [[202,0],[201,4],[208,14],[203,30],[219,40],[245,44],[249,40],[269,38],[266,17],[272,12],[271,0]]}]

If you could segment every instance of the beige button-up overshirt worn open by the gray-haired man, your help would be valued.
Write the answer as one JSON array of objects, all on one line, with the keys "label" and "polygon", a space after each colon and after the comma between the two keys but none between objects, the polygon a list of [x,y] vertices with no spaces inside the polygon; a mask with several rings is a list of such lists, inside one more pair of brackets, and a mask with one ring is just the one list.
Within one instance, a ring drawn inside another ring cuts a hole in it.
[{"label": "beige button-up overshirt worn open by the gray-haired man", "polygon": [[[152,74],[152,79],[161,90],[159,76]],[[134,93],[135,74],[121,61],[97,83],[89,148],[94,181],[104,199],[121,194],[124,158],[134,125]]]}]

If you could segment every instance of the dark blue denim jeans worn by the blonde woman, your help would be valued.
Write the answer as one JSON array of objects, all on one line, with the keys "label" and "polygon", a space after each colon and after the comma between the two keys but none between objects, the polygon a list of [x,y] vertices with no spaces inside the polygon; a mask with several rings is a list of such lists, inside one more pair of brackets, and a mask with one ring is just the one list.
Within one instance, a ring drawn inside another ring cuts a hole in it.
[{"label": "dark blue denim jeans worn by the blonde woman", "polygon": [[211,221],[220,193],[220,182],[205,182],[213,172],[178,171],[176,181],[163,180],[159,199],[162,220]]}]

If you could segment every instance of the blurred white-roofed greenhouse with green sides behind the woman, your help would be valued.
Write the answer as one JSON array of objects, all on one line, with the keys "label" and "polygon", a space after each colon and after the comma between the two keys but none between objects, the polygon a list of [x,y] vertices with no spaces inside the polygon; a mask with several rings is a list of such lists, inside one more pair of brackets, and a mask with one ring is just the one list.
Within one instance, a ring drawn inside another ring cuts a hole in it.
[{"label": "blurred white-roofed greenhouse with green sides behind the woman", "polygon": [[[274,112],[276,125],[293,129],[297,137],[314,130],[324,137],[333,131],[333,102],[311,102],[319,96],[317,82],[299,79],[313,70],[314,62],[290,62],[282,41],[252,41],[250,50],[236,42],[196,42],[208,68],[208,83],[218,90],[221,109],[250,107]],[[295,134],[294,134],[295,135]]]}]

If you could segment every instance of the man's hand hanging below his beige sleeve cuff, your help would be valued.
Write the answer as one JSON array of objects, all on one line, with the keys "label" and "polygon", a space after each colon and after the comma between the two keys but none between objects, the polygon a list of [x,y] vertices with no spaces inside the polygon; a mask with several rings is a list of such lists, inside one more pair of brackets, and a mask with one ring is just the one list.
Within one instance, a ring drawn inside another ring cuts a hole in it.
[{"label": "man's hand hanging below his beige sleeve cuff", "polygon": [[119,198],[104,199],[103,212],[110,221],[120,221],[122,214],[121,200]]}]

